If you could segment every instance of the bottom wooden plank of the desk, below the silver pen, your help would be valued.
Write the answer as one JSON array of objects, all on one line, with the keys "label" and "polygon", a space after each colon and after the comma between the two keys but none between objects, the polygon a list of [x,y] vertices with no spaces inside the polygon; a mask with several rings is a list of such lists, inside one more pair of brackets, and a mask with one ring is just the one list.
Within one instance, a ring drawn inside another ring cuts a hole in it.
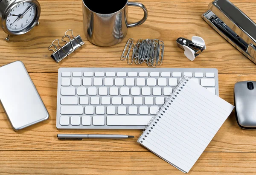
[{"label": "bottom wooden plank of the desk, below the silver pen", "polygon": [[[203,153],[190,175],[252,175],[255,153]],[[151,152],[1,151],[1,175],[183,175]]]}]

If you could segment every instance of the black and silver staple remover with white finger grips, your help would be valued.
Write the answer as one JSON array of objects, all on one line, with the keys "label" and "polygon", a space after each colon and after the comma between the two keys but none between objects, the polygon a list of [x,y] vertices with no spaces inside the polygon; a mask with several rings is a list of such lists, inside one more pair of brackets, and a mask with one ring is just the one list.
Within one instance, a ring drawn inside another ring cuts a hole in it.
[{"label": "black and silver staple remover with white finger grips", "polygon": [[178,38],[177,46],[185,51],[185,56],[191,61],[194,61],[195,57],[206,50],[204,39],[196,36],[192,37],[192,41],[181,37]]}]

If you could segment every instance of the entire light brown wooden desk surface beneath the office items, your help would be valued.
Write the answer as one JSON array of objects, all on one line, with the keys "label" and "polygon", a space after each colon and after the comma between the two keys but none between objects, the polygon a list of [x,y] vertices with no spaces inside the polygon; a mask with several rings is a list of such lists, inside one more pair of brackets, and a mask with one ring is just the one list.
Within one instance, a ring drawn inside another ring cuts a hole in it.
[{"label": "entire light brown wooden desk surface beneath the office items", "polygon": [[[210,0],[140,0],[148,8],[148,20],[130,28],[123,42],[101,48],[90,44],[82,29],[81,0],[40,0],[41,24],[23,35],[5,41],[0,31],[0,66],[21,60],[32,78],[49,120],[15,132],[0,107],[0,174],[1,175],[182,175],[144,147],[137,144],[140,130],[58,131],[56,99],[58,68],[62,67],[146,67],[128,66],[120,55],[128,38],[158,38],[165,42],[162,68],[218,68],[220,96],[233,104],[234,84],[256,81],[256,65],[218,35],[202,18]],[[232,0],[256,21],[256,2]],[[129,8],[129,21],[142,18],[143,12]],[[60,39],[67,29],[80,34],[85,45],[61,63],[55,63],[47,48]],[[207,50],[194,62],[176,46],[178,37],[203,37]],[[128,134],[127,140],[58,141],[58,133]],[[234,113],[227,119],[199,158],[191,175],[234,175],[256,172],[256,131],[242,130]]]}]

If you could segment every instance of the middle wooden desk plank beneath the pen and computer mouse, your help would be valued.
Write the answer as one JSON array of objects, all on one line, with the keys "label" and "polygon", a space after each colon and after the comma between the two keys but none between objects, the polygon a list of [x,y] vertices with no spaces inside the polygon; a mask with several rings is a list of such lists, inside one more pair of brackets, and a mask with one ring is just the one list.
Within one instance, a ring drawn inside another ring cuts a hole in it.
[{"label": "middle wooden desk plank beneath the pen and computer mouse", "polygon": [[[137,144],[141,130],[63,130],[56,129],[57,73],[30,73],[50,118],[40,124],[15,132],[0,108],[0,150],[83,150],[83,151],[147,151]],[[233,87],[243,80],[256,81],[256,75],[219,75],[220,96],[233,104]],[[58,141],[58,133],[128,134],[133,139]],[[207,152],[256,152],[256,130],[238,127],[234,113],[227,119]]]}]

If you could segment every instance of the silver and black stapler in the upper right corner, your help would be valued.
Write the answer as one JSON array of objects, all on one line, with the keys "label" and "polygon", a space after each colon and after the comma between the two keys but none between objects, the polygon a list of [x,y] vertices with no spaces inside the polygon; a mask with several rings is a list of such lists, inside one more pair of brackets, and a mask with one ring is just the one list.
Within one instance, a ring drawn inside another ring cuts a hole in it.
[{"label": "silver and black stapler in the upper right corner", "polygon": [[256,64],[256,24],[229,0],[215,0],[202,18]]}]

